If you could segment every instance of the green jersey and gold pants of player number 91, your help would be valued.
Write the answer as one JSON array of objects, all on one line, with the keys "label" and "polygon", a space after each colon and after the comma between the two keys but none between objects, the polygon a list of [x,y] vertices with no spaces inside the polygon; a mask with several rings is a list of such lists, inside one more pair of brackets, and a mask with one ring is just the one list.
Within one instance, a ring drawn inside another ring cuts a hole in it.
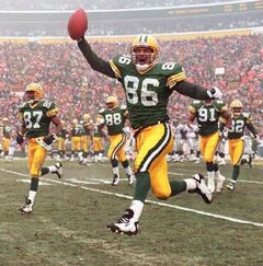
[{"label": "green jersey and gold pants of player number 91", "polygon": [[198,124],[199,149],[205,162],[214,161],[214,154],[219,143],[218,120],[228,109],[222,101],[213,101],[206,104],[203,101],[193,101],[188,111],[195,115]]}]

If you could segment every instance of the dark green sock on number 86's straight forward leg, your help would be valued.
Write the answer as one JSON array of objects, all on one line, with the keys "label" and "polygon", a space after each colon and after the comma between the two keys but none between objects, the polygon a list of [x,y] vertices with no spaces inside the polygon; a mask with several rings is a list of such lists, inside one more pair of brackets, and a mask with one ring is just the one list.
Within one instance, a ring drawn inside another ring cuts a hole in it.
[{"label": "dark green sock on number 86's straight forward leg", "polygon": [[134,199],[145,203],[149,190],[150,190],[149,172],[141,172],[136,174],[136,186],[135,186]]}]

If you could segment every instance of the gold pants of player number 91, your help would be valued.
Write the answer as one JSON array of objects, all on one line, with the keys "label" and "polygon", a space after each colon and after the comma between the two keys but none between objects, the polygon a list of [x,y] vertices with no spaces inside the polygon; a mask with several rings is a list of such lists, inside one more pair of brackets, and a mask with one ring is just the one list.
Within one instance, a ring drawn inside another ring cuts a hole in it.
[{"label": "gold pants of player number 91", "polygon": [[213,162],[214,155],[219,143],[218,132],[208,136],[199,136],[199,149],[205,162]]}]

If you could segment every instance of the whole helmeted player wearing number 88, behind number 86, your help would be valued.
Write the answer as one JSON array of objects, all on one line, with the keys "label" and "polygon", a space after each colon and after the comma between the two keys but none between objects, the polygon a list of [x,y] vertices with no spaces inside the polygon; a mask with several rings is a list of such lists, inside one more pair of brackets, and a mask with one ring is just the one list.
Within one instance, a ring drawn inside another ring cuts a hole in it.
[{"label": "whole helmeted player wearing number 88, behind number 86", "polygon": [[106,106],[107,108],[101,109],[99,114],[103,117],[110,138],[107,158],[110,159],[113,169],[112,185],[116,186],[121,181],[117,160],[122,162],[128,176],[128,183],[132,185],[135,182],[135,176],[124,152],[126,135],[123,130],[128,116],[128,111],[118,106],[118,100],[115,96],[108,96],[106,99]]}]

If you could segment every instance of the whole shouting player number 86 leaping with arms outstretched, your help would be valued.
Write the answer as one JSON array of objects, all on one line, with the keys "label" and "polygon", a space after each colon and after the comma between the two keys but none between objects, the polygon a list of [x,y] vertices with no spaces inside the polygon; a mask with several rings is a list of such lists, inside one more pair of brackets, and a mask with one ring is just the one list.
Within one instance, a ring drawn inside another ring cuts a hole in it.
[{"label": "whole shouting player number 86 leaping with arms outstretched", "polygon": [[84,37],[78,39],[78,46],[92,69],[122,83],[129,120],[135,130],[137,158],[134,200],[115,223],[107,225],[108,231],[126,234],[138,232],[139,217],[150,188],[161,199],[194,190],[206,203],[211,203],[211,194],[199,174],[181,182],[169,182],[165,155],[172,150],[173,136],[167,106],[174,91],[206,100],[220,97],[220,90],[207,90],[186,82],[185,71],[176,62],[159,62],[159,46],[150,35],[137,36],[129,55],[118,55],[110,61],[100,58]]}]

